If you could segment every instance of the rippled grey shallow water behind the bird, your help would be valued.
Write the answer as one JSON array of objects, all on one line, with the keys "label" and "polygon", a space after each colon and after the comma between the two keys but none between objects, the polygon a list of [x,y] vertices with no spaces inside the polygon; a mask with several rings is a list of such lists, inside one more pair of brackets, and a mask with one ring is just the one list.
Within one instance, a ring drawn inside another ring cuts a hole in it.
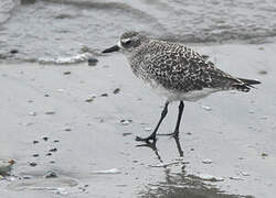
[{"label": "rippled grey shallow water behind the bird", "polygon": [[96,56],[126,30],[181,43],[262,43],[276,35],[276,1],[1,0],[0,61],[85,61],[84,46]]}]

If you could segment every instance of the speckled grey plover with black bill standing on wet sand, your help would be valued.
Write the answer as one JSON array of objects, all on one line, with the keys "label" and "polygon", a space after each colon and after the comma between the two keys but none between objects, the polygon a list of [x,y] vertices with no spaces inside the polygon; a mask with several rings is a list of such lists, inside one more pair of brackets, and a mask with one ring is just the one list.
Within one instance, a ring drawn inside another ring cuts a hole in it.
[{"label": "speckled grey plover with black bill standing on wet sand", "polygon": [[155,91],[167,98],[159,122],[148,138],[137,141],[156,142],[157,131],[172,101],[180,101],[174,136],[179,135],[184,108],[183,100],[197,101],[210,94],[223,90],[247,92],[257,80],[236,78],[216,68],[199,53],[184,45],[150,38],[144,33],[124,33],[117,45],[103,53],[120,51],[127,56],[134,74]]}]

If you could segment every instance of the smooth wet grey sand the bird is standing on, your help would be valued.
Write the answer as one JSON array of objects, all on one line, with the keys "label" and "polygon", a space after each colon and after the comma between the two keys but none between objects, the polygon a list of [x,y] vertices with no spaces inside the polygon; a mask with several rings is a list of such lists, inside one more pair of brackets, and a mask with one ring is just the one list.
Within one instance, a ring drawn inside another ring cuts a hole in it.
[{"label": "smooth wet grey sand the bird is standing on", "polygon": [[[194,47],[221,69],[263,84],[185,102],[183,157],[168,136],[159,136],[158,152],[137,146],[163,99],[135,78],[123,55],[99,57],[95,67],[1,64],[0,160],[17,161],[12,176],[0,179],[1,196],[273,197],[276,44]],[[160,133],[174,128],[177,106]],[[49,172],[57,177],[45,178]],[[223,180],[203,180],[206,174]]]}]

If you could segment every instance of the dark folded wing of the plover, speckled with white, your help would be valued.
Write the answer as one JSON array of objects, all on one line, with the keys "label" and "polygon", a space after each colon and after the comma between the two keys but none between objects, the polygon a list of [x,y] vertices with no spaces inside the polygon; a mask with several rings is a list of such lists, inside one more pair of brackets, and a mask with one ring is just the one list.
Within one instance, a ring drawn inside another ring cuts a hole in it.
[{"label": "dark folded wing of the plover, speckled with white", "polygon": [[[217,69],[191,48],[167,42],[152,42],[146,59],[150,78],[164,88],[179,91],[213,89],[241,89],[245,84]],[[158,53],[156,53],[158,52]],[[234,87],[233,87],[234,85]],[[247,87],[245,87],[247,88]]]}]

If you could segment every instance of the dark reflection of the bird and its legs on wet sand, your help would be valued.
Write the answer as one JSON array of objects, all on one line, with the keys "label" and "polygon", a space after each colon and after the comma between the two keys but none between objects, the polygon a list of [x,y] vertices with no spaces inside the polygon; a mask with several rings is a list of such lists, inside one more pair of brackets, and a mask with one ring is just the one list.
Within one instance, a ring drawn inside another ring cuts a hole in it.
[{"label": "dark reflection of the bird and its legs on wet sand", "polygon": [[[180,157],[183,157],[183,150],[180,144],[179,138],[173,138],[178,154]],[[241,195],[231,195],[225,194],[221,189],[213,185],[206,184],[204,180],[200,179],[197,176],[189,175],[185,172],[185,164],[182,164],[179,172],[172,172],[171,168],[168,168],[171,164],[163,163],[157,145],[157,142],[150,144],[141,144],[137,146],[145,146],[151,148],[157,155],[158,161],[163,164],[159,167],[164,167],[164,179],[153,184],[146,184],[146,188],[139,193],[140,197],[144,198],[253,198],[252,196],[241,196]]]}]

